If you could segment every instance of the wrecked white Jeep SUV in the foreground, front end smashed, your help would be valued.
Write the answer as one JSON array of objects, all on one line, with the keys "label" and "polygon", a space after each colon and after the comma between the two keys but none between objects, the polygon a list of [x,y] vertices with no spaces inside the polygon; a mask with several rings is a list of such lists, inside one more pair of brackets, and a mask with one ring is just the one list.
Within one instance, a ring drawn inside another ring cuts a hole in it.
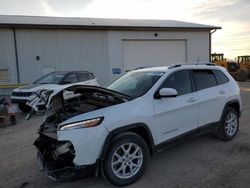
[{"label": "wrecked white Jeep SUV in the foreground, front end smashed", "polygon": [[[77,100],[65,102],[65,90]],[[45,96],[34,143],[42,169],[62,181],[95,170],[118,186],[137,181],[149,156],[177,138],[211,132],[232,140],[242,111],[237,83],[210,63],[142,68],[107,88],[79,85]]]}]

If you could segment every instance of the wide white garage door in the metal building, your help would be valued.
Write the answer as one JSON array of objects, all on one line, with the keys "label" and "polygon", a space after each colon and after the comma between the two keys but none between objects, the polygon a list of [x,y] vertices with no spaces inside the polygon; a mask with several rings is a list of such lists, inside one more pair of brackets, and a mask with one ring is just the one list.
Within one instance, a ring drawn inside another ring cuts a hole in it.
[{"label": "wide white garage door in the metal building", "polygon": [[186,62],[185,40],[124,40],[123,68]]}]

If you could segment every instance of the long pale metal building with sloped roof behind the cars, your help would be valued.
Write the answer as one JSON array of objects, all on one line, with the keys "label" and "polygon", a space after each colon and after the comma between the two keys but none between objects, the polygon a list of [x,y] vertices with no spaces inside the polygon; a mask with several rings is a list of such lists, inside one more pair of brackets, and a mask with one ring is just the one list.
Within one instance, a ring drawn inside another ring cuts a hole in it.
[{"label": "long pale metal building with sloped roof behind the cars", "polygon": [[220,27],[172,20],[0,16],[0,84],[89,70],[104,84],[147,65],[209,61]]}]

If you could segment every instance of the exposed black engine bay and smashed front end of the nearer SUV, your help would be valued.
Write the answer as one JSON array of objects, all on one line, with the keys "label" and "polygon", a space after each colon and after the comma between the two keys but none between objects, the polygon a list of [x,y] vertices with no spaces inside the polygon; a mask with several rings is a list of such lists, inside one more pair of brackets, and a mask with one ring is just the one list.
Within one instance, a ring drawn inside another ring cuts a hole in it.
[{"label": "exposed black engine bay and smashed front end of the nearer SUV", "polygon": [[[71,92],[73,97],[64,100],[65,92]],[[130,97],[95,86],[72,86],[49,93],[48,95],[47,92],[47,98],[43,98],[43,101],[45,101],[43,106],[46,107],[44,109],[45,121],[40,126],[39,137],[34,142],[41,169],[50,178],[58,181],[92,175],[96,164],[75,164],[77,148],[70,141],[72,137],[61,139],[58,131],[61,130],[62,132],[61,125],[65,121],[68,122],[73,119],[71,123],[74,123],[75,117],[79,119],[82,114],[126,102],[130,100]],[[40,96],[44,97],[45,95]],[[34,100],[39,101],[38,99]],[[41,102],[37,104],[40,105]],[[38,110],[38,108],[33,109]],[[75,131],[79,133],[79,130],[76,129]],[[63,130],[63,132],[65,133],[67,130]],[[86,133],[86,135],[89,134]],[[84,135],[80,136],[83,138]]]}]

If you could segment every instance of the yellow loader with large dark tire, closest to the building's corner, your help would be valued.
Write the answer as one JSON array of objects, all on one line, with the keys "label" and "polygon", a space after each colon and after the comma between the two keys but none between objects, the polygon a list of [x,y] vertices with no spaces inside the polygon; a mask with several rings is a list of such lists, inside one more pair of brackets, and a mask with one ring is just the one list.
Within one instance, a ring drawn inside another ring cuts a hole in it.
[{"label": "yellow loader with large dark tire, closest to the building's corner", "polygon": [[228,61],[224,59],[224,54],[211,54],[211,62],[215,63],[218,66],[226,68],[235,80],[246,81],[248,75],[247,70],[238,66],[235,61]]}]

